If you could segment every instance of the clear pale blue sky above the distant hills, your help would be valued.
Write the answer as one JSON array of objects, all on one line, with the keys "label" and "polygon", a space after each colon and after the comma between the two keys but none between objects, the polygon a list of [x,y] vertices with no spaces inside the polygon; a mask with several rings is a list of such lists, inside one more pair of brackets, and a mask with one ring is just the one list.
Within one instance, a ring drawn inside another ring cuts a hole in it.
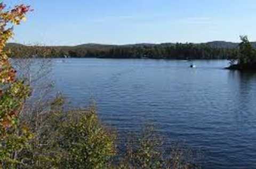
[{"label": "clear pale blue sky above the distant hills", "polygon": [[76,45],[256,41],[255,0],[6,0],[30,4],[12,40]]}]

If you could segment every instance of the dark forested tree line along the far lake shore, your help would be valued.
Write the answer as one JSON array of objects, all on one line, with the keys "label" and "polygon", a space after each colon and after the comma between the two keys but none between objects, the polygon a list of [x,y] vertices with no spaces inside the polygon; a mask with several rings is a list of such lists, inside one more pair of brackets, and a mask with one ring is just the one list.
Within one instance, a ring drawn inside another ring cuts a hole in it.
[{"label": "dark forested tree line along the far lake shore", "polygon": [[[41,53],[41,57],[95,57],[95,58],[153,58],[153,59],[231,59],[235,58],[238,45],[226,42],[205,44],[135,44],[135,45],[99,45],[85,44],[79,46],[25,46],[9,44],[11,57],[33,56]],[[43,51],[43,52],[42,52]]]}]

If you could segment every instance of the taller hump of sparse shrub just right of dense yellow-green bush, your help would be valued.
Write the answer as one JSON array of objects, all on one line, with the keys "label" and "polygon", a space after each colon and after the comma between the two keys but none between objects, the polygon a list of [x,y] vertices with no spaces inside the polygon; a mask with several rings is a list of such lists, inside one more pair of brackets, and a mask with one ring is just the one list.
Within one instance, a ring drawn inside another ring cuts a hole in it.
[{"label": "taller hump of sparse shrub just right of dense yellow-green bush", "polygon": [[133,134],[127,142],[125,157],[118,168],[164,168],[162,145],[161,137],[147,126],[139,136]]}]

